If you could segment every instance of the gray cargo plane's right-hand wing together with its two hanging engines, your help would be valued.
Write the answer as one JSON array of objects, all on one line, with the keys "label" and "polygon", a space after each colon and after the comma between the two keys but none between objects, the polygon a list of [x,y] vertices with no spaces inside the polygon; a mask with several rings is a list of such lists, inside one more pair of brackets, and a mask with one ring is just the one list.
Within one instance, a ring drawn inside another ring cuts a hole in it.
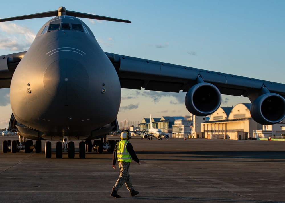
[{"label": "gray cargo plane's right-hand wing together with its two hanging engines", "polygon": [[221,94],[245,96],[257,123],[270,125],[285,118],[285,84],[207,71],[147,59],[106,53],[119,76],[121,88],[187,92],[186,109],[196,116],[214,113]]}]

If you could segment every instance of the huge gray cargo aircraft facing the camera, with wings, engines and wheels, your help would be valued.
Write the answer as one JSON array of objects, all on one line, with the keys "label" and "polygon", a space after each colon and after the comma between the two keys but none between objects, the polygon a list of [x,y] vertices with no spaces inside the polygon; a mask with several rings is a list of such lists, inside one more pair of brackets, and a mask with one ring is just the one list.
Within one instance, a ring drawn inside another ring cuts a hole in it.
[{"label": "huge gray cargo aircraft facing the camera, with wings, engines and wheels", "polygon": [[[74,158],[86,149],[114,148],[107,134],[117,128],[121,88],[187,92],[185,105],[197,116],[210,115],[221,104],[221,94],[245,96],[251,116],[261,124],[285,117],[285,85],[180,65],[104,53],[89,27],[78,18],[127,22],[116,18],[68,11],[60,7],[32,15],[0,19],[52,17],[40,28],[28,51],[0,56],[0,88],[10,88],[9,130],[19,141],[5,140],[3,152],[41,151],[41,140],[56,143],[56,157]],[[30,139],[30,140],[26,140]],[[94,140],[92,144],[92,139]],[[36,140],[35,145],[32,140]],[[75,149],[69,140],[87,140]],[[63,144],[63,146],[62,146]],[[51,142],[45,144],[50,158]]]}]

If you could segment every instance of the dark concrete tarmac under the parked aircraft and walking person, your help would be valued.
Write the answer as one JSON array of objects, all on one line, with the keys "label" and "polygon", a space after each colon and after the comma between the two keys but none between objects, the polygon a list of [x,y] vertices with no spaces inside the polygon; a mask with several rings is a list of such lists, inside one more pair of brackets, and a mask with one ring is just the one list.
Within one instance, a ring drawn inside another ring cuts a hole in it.
[{"label": "dark concrete tarmac under the parked aircraft and walking person", "polygon": [[[0,137],[1,149],[8,139],[17,137]],[[38,154],[1,150],[0,202],[285,203],[285,142],[138,137],[130,142],[142,163],[131,162],[135,197],[125,185],[121,198],[110,196],[119,177],[111,152],[86,153],[85,159],[78,153],[57,159],[52,153],[46,159],[43,141]]]}]

